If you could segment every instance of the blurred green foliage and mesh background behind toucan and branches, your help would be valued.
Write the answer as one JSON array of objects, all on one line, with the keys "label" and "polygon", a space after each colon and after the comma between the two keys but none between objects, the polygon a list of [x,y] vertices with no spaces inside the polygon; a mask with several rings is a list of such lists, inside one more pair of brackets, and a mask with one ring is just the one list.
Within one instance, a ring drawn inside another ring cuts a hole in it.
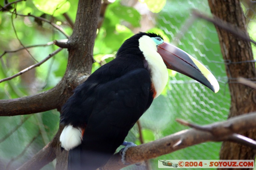
[{"label": "blurred green foliage and mesh background behind toucan and branches", "polygon": [[[241,4],[247,19],[248,32],[255,39],[255,11],[246,2],[242,1]],[[4,0],[0,0],[2,6],[4,3]],[[150,31],[161,34],[165,41],[170,41],[201,61],[220,84],[220,91],[214,94],[191,78],[169,71],[170,78],[164,92],[154,100],[140,119],[145,142],[187,129],[177,123],[176,118],[197,124],[227,119],[230,94],[218,35],[211,23],[201,19],[193,20],[191,15],[191,9],[211,15],[207,0],[159,0],[157,3],[155,0],[109,0],[108,3],[110,4],[105,11],[105,19],[97,31],[94,47],[96,62],[92,72],[111,61],[124,40],[138,31]],[[65,14],[74,22],[77,4],[78,0],[27,0],[13,4],[9,10],[16,8],[18,14],[30,13],[44,17],[71,35],[72,28]],[[66,39],[65,35],[46,22],[28,16],[16,16],[9,11],[0,11],[0,37],[0,55],[7,50],[21,48],[19,40],[24,46],[29,46]],[[252,47],[255,54],[256,48]],[[30,48],[29,52],[37,61],[41,61],[56,49],[54,45],[47,45]],[[64,75],[67,57],[67,50],[62,50],[40,67],[1,83],[0,99],[19,98],[51,89]],[[0,79],[12,76],[36,63],[26,50],[6,53],[0,60]],[[0,169],[16,168],[32,158],[51,141],[58,125],[59,112],[56,110],[0,117]],[[137,124],[129,132],[126,141],[140,144]],[[199,144],[151,159],[149,162],[152,169],[157,169],[158,159],[219,159],[220,146],[221,143],[216,142]],[[54,169],[54,166],[55,161],[43,169]],[[128,166],[124,169],[134,168],[143,169],[139,166]]]}]

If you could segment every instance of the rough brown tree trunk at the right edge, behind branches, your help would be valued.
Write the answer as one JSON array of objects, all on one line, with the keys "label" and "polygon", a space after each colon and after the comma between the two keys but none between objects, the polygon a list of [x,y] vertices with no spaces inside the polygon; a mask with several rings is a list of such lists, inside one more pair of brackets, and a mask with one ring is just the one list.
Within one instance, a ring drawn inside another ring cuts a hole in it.
[{"label": "rough brown tree trunk at the right edge, behind branches", "polygon": [[[214,17],[230,23],[248,36],[244,13],[239,0],[208,0]],[[243,77],[255,79],[256,70],[253,60],[251,44],[242,41],[235,35],[228,33],[216,26],[219,35],[221,52],[226,61],[226,72],[231,94],[231,107],[228,117],[256,111],[256,91],[252,88],[237,83],[236,78]],[[256,139],[256,130],[243,133]],[[256,150],[232,142],[223,142],[220,150],[220,159],[255,159]]]}]

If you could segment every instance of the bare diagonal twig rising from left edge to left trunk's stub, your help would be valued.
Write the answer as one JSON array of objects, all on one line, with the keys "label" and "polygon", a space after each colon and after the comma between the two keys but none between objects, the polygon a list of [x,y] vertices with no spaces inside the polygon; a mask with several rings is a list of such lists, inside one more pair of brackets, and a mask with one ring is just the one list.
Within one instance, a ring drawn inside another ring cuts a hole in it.
[{"label": "bare diagonal twig rising from left edge to left trunk's stub", "polygon": [[23,74],[23,73],[25,73],[25,72],[27,72],[27,71],[29,71],[29,70],[35,68],[35,67],[40,66],[41,64],[43,64],[44,62],[46,62],[48,59],[50,59],[52,56],[54,56],[54,55],[56,55],[57,53],[59,53],[62,49],[63,49],[63,48],[58,48],[57,50],[55,50],[54,52],[52,52],[51,54],[49,54],[46,58],[44,58],[42,61],[40,61],[40,62],[38,62],[38,63],[36,63],[36,64],[34,64],[34,65],[31,65],[31,66],[27,67],[27,68],[24,69],[24,70],[21,70],[20,72],[18,72],[17,74],[12,75],[11,77],[3,78],[2,80],[0,80],[0,83],[2,83],[2,82],[4,82],[4,81],[7,81],[7,80],[11,80],[11,79],[13,79],[13,78],[15,78],[15,77],[20,76],[20,75]]}]

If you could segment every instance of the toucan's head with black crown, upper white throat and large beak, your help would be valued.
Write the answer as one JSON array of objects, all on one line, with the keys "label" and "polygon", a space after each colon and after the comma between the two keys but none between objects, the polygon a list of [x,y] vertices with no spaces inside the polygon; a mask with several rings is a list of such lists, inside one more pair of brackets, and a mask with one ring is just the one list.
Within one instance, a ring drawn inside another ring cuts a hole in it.
[{"label": "toucan's head with black crown, upper white throat and large beak", "polygon": [[117,57],[138,56],[154,68],[149,70],[160,70],[162,75],[166,73],[162,69],[165,67],[197,80],[213,92],[219,90],[218,81],[202,63],[180,48],[164,42],[156,33],[137,33],[124,41],[117,52]]}]

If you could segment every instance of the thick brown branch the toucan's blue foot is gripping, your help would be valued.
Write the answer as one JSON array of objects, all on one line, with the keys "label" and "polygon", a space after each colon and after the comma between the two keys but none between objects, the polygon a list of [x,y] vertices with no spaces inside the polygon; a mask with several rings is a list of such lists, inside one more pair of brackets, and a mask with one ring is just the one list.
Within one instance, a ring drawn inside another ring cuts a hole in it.
[{"label": "thick brown branch the toucan's blue foot is gripping", "polygon": [[[232,141],[234,139],[234,133],[255,129],[255,120],[256,112],[253,112],[232,117],[224,122],[205,125],[205,127],[211,127],[214,134],[209,131],[198,129],[182,130],[162,139],[131,147],[126,152],[126,161],[130,164],[135,164],[143,160],[156,158],[207,141]],[[253,146],[255,147],[255,144]],[[102,167],[102,170],[117,170],[125,166],[127,165],[122,163],[119,153],[116,153],[107,164]]]}]

